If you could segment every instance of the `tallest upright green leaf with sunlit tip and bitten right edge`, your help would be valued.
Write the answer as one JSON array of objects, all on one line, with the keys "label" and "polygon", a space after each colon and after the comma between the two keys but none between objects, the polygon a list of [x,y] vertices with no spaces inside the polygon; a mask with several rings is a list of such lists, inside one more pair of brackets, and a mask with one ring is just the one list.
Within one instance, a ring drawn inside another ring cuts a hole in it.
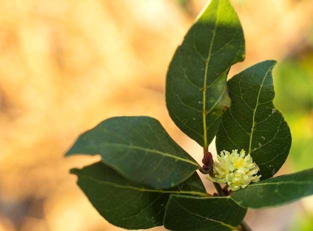
[{"label": "tallest upright green leaf with sunlit tip and bitten right edge", "polygon": [[244,37],[228,0],[212,0],[175,51],[166,76],[166,105],[175,124],[201,146],[215,136],[230,104],[226,75],[244,59]]}]

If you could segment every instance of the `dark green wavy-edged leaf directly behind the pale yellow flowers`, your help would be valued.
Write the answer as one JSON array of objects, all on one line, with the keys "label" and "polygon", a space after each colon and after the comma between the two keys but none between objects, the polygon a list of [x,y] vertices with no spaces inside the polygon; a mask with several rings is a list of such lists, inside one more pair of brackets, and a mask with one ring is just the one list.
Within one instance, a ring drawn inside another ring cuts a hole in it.
[{"label": "dark green wavy-edged leaf directly behind the pale yellow flowers", "polygon": [[274,60],[257,63],[228,80],[231,106],[222,117],[216,149],[244,149],[259,166],[261,179],[271,177],[287,158],[288,124],[273,105]]}]

